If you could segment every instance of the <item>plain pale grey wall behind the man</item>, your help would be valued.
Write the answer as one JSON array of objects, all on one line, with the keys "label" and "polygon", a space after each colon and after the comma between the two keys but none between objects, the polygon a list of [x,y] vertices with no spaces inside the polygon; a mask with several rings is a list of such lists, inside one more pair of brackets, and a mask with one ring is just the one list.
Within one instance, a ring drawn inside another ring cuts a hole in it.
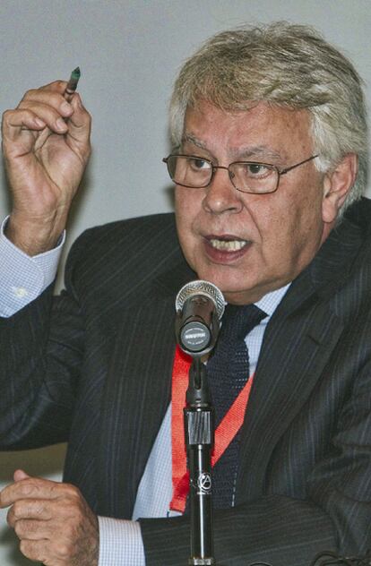
[{"label": "plain pale grey wall behind the man", "polygon": [[[25,90],[82,69],[93,155],[68,245],[85,227],[171,210],[161,158],[168,153],[167,105],[177,68],[214,32],[273,20],[322,30],[356,64],[371,99],[371,0],[0,0],[1,111]],[[3,217],[10,202],[2,169],[0,180]],[[16,467],[59,478],[63,456],[64,447],[0,454],[0,487]],[[0,564],[30,564],[4,518],[3,512]]]}]

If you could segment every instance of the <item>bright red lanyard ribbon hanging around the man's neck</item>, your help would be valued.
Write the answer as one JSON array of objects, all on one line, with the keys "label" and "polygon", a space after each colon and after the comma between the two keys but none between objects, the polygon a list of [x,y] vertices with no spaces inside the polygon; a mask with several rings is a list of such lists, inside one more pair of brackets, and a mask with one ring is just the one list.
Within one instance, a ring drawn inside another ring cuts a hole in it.
[{"label": "bright red lanyard ribbon hanging around the man's neck", "polygon": [[[173,498],[170,509],[184,512],[186,509],[186,496],[189,491],[189,473],[186,469],[186,442],[184,433],[183,408],[186,406],[186,390],[188,388],[188,373],[192,364],[192,357],[187,356],[177,346],[172,378],[171,393],[171,442],[173,466]],[[220,459],[234,439],[244,422],[248,398],[254,375],[247,380],[237,399],[229,407],[229,411],[221,420],[215,431],[215,446],[211,457],[211,466]]]}]

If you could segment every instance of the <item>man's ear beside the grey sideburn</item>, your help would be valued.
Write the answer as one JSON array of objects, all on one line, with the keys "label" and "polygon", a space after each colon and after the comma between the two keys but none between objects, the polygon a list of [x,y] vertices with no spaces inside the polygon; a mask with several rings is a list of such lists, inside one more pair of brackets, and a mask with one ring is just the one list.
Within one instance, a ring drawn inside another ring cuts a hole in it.
[{"label": "man's ear beside the grey sideburn", "polygon": [[322,219],[333,222],[345,201],[349,190],[356,181],[358,157],[348,153],[341,162],[324,176],[324,199],[322,202]]}]

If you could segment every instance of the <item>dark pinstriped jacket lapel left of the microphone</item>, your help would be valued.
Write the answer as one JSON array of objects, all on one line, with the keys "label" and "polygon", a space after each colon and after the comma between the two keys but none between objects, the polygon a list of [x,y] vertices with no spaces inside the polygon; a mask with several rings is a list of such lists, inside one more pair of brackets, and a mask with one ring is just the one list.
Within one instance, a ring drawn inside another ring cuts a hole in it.
[{"label": "dark pinstriped jacket lapel left of the microphone", "polygon": [[181,261],[122,313],[102,409],[99,500],[108,515],[131,518],[171,396],[175,297],[179,287],[194,277]]}]

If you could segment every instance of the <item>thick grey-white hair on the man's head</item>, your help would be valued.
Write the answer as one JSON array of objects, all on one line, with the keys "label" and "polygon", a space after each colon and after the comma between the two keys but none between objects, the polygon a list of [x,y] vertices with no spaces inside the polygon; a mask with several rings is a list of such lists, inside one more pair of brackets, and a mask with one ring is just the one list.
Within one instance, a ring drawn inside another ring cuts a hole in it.
[{"label": "thick grey-white hair on the man's head", "polygon": [[252,102],[306,108],[312,118],[315,164],[331,171],[358,155],[358,176],[343,210],[367,183],[367,116],[354,66],[310,27],[275,22],[221,32],[183,65],[170,103],[170,132],[180,145],[187,107],[207,100],[227,111]]}]

